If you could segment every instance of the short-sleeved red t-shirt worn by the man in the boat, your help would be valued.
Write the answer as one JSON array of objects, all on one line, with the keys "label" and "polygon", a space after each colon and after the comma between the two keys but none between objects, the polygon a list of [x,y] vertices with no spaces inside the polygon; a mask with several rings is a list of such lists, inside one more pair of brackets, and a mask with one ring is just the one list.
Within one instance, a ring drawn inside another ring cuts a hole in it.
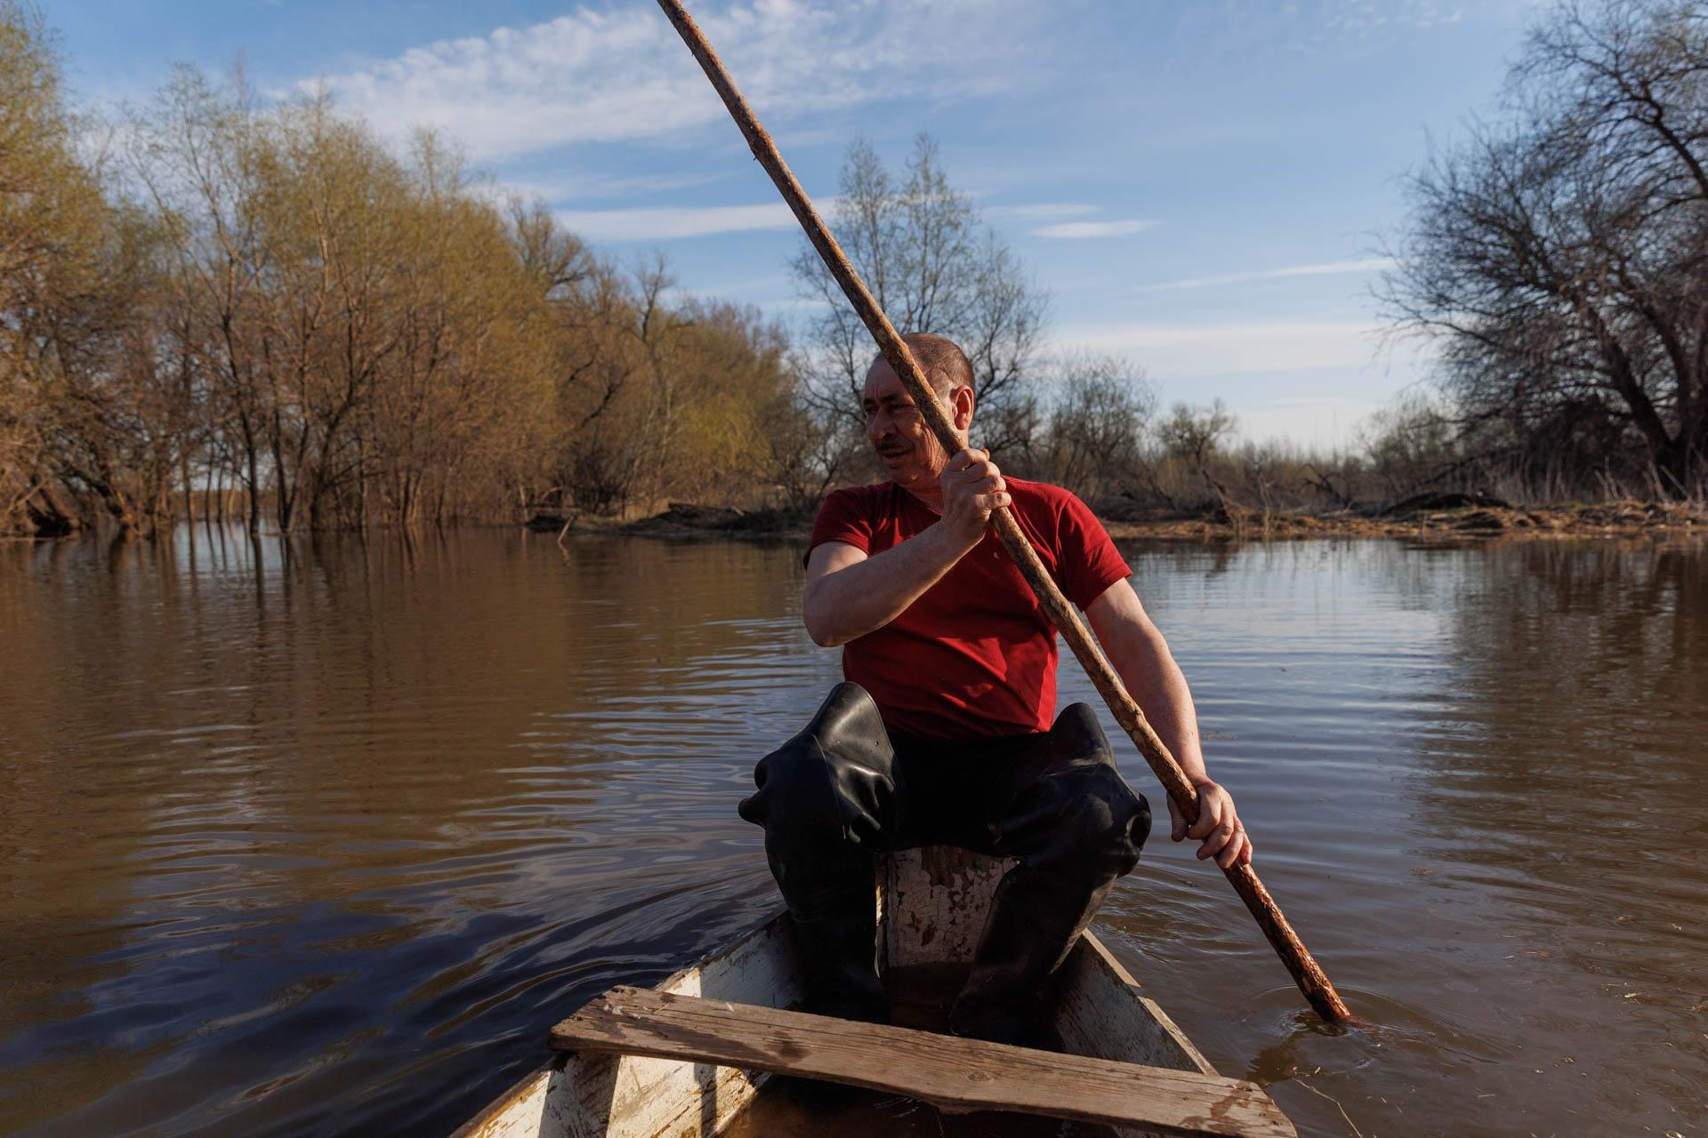
[{"label": "short-sleeved red t-shirt worn by the man in the boat", "polygon": [[[1132,573],[1102,522],[1061,486],[1004,476],[1020,529],[1081,609]],[[868,556],[938,520],[895,483],[832,491],[813,546]],[[808,554],[811,549],[808,549]],[[885,725],[921,739],[1049,730],[1056,718],[1056,626],[996,532],[883,628],[842,648],[842,674],[871,693]]]}]

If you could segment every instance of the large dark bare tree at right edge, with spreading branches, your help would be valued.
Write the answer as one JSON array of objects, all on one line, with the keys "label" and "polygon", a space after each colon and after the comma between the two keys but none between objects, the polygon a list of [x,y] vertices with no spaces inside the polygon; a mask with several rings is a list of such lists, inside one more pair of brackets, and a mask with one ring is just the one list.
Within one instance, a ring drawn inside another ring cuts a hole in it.
[{"label": "large dark bare tree at right edge, with spreading branches", "polygon": [[1530,469],[1708,473],[1708,9],[1568,2],[1503,118],[1413,181],[1383,297],[1440,336],[1467,440]]}]

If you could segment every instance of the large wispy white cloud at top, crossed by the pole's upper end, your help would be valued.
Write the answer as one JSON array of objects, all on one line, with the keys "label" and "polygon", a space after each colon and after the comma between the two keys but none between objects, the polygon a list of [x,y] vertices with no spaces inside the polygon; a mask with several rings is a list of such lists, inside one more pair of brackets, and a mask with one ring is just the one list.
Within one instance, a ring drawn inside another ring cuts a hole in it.
[{"label": "large wispy white cloud at top, crossed by the pole's upper end", "polygon": [[[695,19],[743,94],[777,118],[897,97],[953,99],[1011,90],[1047,5],[803,3],[697,5]],[[1032,34],[1027,34],[1030,29]],[[921,67],[919,44],[953,43]],[[442,39],[325,80],[381,131],[424,125],[475,159],[598,142],[738,143],[711,85],[652,5],[577,9],[531,27]],[[316,82],[304,82],[311,89]]]}]

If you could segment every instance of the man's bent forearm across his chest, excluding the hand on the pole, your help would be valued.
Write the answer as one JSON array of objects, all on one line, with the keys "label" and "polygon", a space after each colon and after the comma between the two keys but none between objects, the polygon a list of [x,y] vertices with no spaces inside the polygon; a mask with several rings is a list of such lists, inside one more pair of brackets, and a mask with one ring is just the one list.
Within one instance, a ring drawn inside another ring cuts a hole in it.
[{"label": "man's bent forearm across his chest, excluding the hand on the pole", "polygon": [[938,584],[972,546],[934,524],[902,544],[808,582],[801,618],[827,648],[876,631]]}]

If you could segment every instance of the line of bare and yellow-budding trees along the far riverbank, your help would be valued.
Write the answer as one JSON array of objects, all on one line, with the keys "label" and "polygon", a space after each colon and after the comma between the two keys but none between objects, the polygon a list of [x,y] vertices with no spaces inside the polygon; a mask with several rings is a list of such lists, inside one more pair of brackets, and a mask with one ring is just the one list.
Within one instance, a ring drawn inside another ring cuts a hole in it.
[{"label": "line of bare and yellow-budding trees along the far riverbank", "polygon": [[[1052,351],[1049,297],[927,136],[898,167],[856,142],[832,227],[898,328],[967,350],[977,442],[1117,534],[1689,529],[1705,75],[1699,3],[1535,17],[1498,111],[1411,174],[1385,249],[1378,300],[1431,340],[1436,382],[1336,450],[1243,438],[1220,401],[1163,408],[1143,362]],[[454,140],[398,147],[241,75],[179,68],[96,121],[41,12],[0,0],[0,534],[798,531],[878,473],[869,338],[804,242],[789,271],[816,302],[793,326],[683,295],[663,258],[588,246]]]}]

